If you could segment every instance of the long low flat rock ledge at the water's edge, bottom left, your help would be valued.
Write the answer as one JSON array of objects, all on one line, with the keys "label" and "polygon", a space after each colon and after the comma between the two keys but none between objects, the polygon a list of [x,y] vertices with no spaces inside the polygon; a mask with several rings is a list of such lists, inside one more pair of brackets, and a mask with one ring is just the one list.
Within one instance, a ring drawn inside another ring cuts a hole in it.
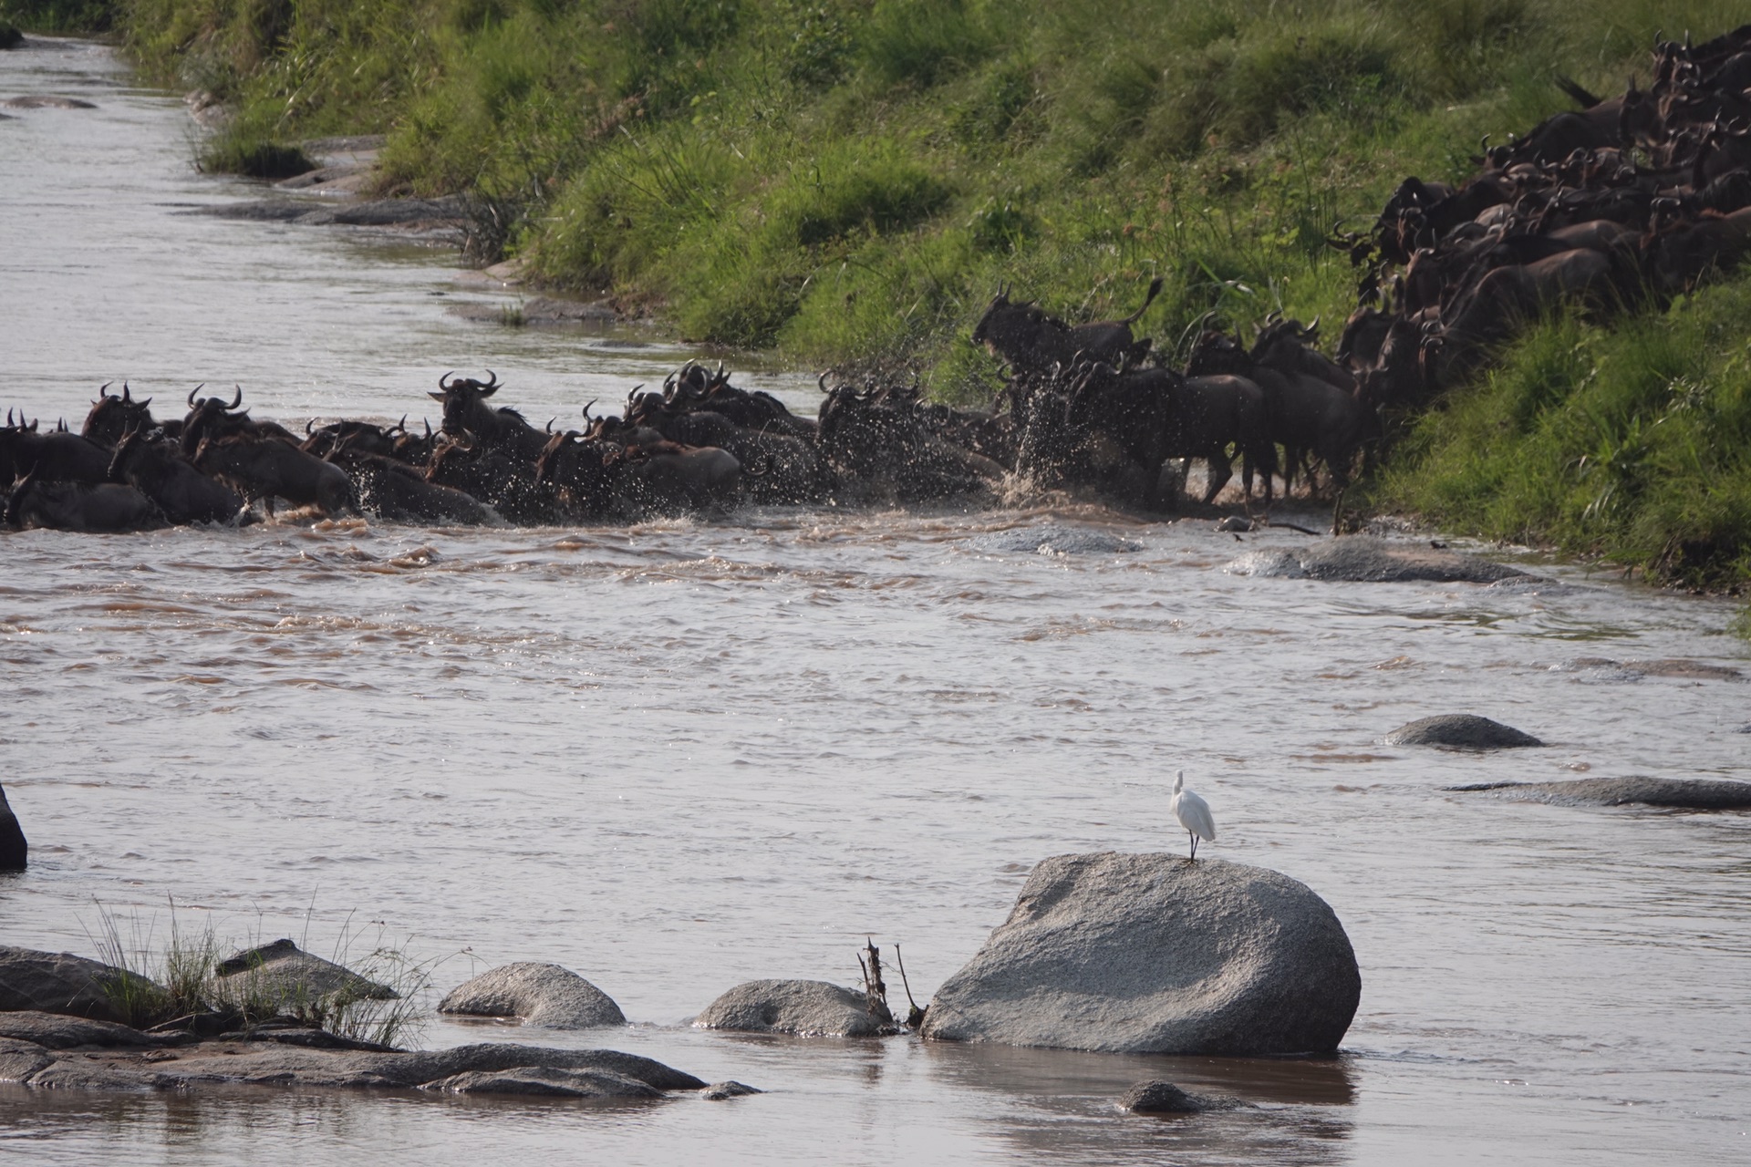
[{"label": "long low flat rock ledge at the water's edge, bottom left", "polygon": [[[138,1034],[151,1045],[145,1034]],[[361,1053],[282,1045],[201,1041],[175,1048],[133,1043],[51,1050],[0,1038],[0,1081],[37,1088],[182,1090],[217,1085],[432,1090],[573,1099],[655,1099],[704,1081],[618,1050],[553,1050],[485,1043],[454,1050]]]}]

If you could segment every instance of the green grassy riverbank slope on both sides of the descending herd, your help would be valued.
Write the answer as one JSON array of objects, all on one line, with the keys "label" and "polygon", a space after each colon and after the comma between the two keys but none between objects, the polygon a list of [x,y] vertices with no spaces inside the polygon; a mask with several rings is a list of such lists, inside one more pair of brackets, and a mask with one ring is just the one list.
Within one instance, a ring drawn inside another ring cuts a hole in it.
[{"label": "green grassy riverbank slope on both sides of the descending herd", "polygon": [[[0,14],[56,7],[0,0]],[[70,7],[70,5],[61,5]],[[1723,0],[117,0],[144,66],[238,110],[208,161],[385,131],[385,189],[464,191],[476,247],[686,336],[904,360],[977,399],[1000,280],[1163,346],[1206,310],[1341,320],[1324,247],[1614,93]],[[19,19],[19,16],[14,16]],[[21,19],[26,23],[28,19]],[[1728,282],[1551,324],[1413,423],[1376,506],[1732,586],[1751,558]],[[1683,338],[1683,339],[1679,339]],[[1733,429],[1739,427],[1739,429]],[[1737,437],[1733,436],[1737,434]]]}]

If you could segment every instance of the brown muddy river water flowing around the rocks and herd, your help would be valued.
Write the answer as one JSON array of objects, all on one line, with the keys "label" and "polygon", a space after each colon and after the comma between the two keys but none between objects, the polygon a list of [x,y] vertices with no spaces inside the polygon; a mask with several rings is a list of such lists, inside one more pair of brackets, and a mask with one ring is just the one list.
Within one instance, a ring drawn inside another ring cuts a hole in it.
[{"label": "brown muddy river water flowing around the rocks and herd", "polygon": [[[473,324],[452,250],[180,213],[182,103],[107,51],[0,52],[4,404],[77,427],[107,380],[259,416],[434,413],[492,367],[538,422],[660,380],[634,329]],[[746,362],[744,362],[746,364]],[[807,376],[739,378],[811,404]],[[1311,521],[1311,520],[1308,520]],[[1525,556],[1541,583],[1231,574],[1294,532],[1065,506],[758,511],[636,528],[266,523],[0,534],[0,782],[32,868],[0,941],[95,954],[103,919],[378,940],[438,992],[553,961],[611,1045],[760,1097],[588,1108],[235,1090],[0,1088],[0,1158],[299,1162],[1742,1164],[1751,1157],[1751,817],[1585,810],[1443,786],[1751,777],[1732,607]],[[1501,553],[1497,553],[1501,555]],[[1537,751],[1378,744],[1478,712]],[[781,1041],[688,1018],[760,976],[856,982],[898,941],[923,1001],[1072,850],[1184,845],[1338,912],[1362,1004],[1326,1062]],[[1255,1109],[1121,1116],[1163,1076]]]}]

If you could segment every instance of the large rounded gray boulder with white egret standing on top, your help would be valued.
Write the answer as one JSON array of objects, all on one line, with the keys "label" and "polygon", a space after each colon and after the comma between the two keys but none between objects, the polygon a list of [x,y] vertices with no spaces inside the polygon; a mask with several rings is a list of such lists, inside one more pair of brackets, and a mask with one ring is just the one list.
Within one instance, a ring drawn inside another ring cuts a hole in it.
[{"label": "large rounded gray boulder with white egret standing on top", "polygon": [[1107,1053],[1331,1052],[1362,978],[1324,899],[1264,868],[1052,856],[923,1036]]}]

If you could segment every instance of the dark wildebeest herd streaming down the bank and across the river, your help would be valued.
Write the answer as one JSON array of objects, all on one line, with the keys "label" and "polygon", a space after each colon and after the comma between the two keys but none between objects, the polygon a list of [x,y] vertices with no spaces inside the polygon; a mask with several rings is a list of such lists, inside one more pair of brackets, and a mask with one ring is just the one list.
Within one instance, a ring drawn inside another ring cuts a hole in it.
[{"label": "dark wildebeest herd streaming down the bank and across the river", "polygon": [[1558,303],[1618,311],[1690,287],[1751,250],[1751,24],[1655,47],[1648,89],[1600,100],[1490,149],[1459,184],[1406,178],[1366,233],[1333,233],[1361,269],[1361,306],[1334,355],[1319,322],[1276,315],[1238,332],[1187,329],[1184,369],[1121,320],[1070,325],[1007,289],[972,339],[1009,381],[991,409],[926,402],[921,387],[828,385],[818,416],[735,387],[723,367],[634,388],[620,415],[536,429],[490,402],[499,380],[440,378],[443,423],[336,422],[303,434],[231,401],[187,395],[182,418],[102,388],[84,429],[0,427],[5,523],[140,530],[243,521],[256,502],[408,523],[623,521],[739,502],[930,502],[1007,481],[1094,488],[1171,507],[1184,467],[1208,467],[1210,504],[1241,460],[1250,506],[1324,469],[1341,492],[1382,436],[1382,413],[1424,406]]}]

